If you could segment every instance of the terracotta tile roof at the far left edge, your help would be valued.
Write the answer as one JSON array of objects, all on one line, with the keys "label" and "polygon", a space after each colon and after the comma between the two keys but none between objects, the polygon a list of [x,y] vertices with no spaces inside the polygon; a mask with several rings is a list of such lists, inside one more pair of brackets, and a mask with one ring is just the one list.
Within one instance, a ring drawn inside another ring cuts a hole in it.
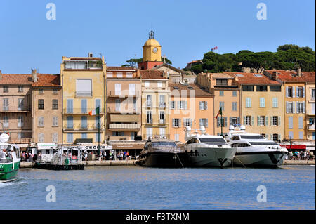
[{"label": "terracotta tile roof at the far left edge", "polygon": [[1,85],[32,85],[32,74],[0,74]]}]

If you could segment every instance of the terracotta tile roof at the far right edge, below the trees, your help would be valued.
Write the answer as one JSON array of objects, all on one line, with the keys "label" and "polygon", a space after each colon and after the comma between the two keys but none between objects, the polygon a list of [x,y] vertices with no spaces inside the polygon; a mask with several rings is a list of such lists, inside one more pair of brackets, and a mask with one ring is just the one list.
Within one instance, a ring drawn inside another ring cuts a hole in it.
[{"label": "terracotta tile roof at the far right edge, below the trees", "polygon": [[278,79],[285,82],[313,82],[315,83],[315,72],[302,72],[302,76],[298,77],[297,72],[284,70],[267,70],[266,72],[273,74],[278,72]]}]

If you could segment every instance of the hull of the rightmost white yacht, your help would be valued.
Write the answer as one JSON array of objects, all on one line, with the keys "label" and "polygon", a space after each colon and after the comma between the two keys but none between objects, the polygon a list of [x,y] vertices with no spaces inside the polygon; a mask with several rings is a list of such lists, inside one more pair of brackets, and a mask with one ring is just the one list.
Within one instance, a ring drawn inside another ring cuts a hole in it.
[{"label": "hull of the rightmost white yacht", "polygon": [[238,152],[233,160],[233,166],[246,167],[278,167],[283,164],[287,155],[284,151]]}]

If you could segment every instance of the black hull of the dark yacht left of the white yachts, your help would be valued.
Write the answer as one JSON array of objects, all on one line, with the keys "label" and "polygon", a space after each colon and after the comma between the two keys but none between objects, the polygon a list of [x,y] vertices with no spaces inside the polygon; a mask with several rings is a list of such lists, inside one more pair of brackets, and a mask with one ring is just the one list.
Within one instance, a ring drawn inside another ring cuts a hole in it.
[{"label": "black hull of the dark yacht left of the white yachts", "polygon": [[187,166],[185,152],[149,152],[138,162],[140,166],[183,168]]}]

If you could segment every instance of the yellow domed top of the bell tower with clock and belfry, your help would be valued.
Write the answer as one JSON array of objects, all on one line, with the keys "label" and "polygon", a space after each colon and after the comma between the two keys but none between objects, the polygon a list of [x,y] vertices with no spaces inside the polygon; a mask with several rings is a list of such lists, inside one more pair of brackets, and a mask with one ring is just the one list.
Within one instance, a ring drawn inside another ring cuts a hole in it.
[{"label": "yellow domed top of the bell tower with clock and belfry", "polygon": [[143,62],[161,62],[162,46],[154,39],[154,32],[150,31],[149,39],[143,46]]}]

